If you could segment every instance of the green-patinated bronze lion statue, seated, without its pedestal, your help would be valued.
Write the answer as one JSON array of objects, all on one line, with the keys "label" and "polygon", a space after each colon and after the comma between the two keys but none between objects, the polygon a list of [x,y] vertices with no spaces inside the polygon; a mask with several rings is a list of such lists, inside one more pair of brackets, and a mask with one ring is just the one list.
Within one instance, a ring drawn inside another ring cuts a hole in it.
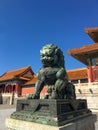
[{"label": "green-patinated bronze lion statue, seated, without its pedestal", "polygon": [[44,86],[46,99],[75,99],[75,87],[68,81],[63,52],[54,44],[47,44],[40,51],[42,68],[37,73],[34,94],[29,99],[39,99]]}]

